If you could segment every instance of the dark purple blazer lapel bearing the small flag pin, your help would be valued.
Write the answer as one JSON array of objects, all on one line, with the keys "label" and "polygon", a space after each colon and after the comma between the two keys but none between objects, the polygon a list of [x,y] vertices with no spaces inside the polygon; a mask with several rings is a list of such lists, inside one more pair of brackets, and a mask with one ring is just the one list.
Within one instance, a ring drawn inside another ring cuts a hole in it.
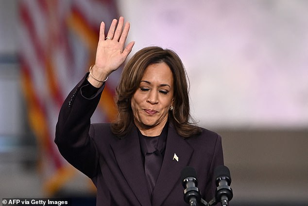
[{"label": "dark purple blazer lapel bearing the small flag pin", "polygon": [[193,148],[170,125],[163,164],[153,191],[153,206],[162,205],[174,185],[180,184],[181,170],[188,165],[192,153]]}]

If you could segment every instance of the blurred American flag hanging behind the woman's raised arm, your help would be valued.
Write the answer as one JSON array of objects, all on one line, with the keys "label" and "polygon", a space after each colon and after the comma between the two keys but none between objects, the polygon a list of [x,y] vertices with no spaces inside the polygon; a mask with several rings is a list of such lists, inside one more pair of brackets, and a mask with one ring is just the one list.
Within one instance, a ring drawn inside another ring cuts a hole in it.
[{"label": "blurred American flag hanging behind the woman's raised arm", "polygon": [[[40,148],[43,188],[52,196],[76,175],[53,142],[60,107],[95,62],[101,21],[110,25],[118,10],[115,0],[20,0],[18,10],[22,89]],[[116,115],[112,79],[95,113],[100,121]]]}]

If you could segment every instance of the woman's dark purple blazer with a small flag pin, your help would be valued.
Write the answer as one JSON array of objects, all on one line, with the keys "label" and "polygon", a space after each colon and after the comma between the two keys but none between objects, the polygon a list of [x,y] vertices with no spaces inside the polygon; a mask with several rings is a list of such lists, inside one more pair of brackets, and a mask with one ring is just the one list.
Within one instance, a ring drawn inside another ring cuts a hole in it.
[{"label": "woman's dark purple blazer with a small flag pin", "polygon": [[[169,124],[162,167],[151,202],[144,173],[137,128],[118,138],[110,124],[90,124],[103,87],[86,98],[86,76],[65,100],[56,126],[55,143],[63,157],[92,179],[97,187],[97,206],[187,206],[180,173],[196,169],[198,188],[209,202],[215,194],[213,170],[223,165],[222,140],[202,129],[198,136],[183,138]],[[178,161],[173,158],[174,154]]]}]

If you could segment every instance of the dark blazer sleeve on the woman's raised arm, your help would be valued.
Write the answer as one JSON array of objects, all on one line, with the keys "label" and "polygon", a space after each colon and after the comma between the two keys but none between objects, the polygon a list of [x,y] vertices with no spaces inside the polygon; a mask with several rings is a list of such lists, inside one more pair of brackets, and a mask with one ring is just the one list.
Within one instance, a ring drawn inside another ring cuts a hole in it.
[{"label": "dark blazer sleeve on the woman's raised arm", "polygon": [[105,84],[96,94],[88,97],[83,94],[89,86],[87,75],[68,94],[61,107],[54,142],[72,166],[92,178],[97,174],[99,155],[95,142],[89,136],[90,118],[100,101]]}]

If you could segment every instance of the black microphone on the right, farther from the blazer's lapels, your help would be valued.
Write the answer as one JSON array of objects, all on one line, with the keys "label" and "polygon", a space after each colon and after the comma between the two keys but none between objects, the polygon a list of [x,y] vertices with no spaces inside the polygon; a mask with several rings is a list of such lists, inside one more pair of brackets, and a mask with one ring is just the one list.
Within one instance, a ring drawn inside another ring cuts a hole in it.
[{"label": "black microphone on the right, farther from the blazer's lapels", "polygon": [[214,170],[214,177],[216,179],[216,201],[221,202],[222,206],[228,206],[229,201],[233,197],[233,192],[230,187],[231,184],[231,176],[230,170],[224,166],[218,166]]}]

